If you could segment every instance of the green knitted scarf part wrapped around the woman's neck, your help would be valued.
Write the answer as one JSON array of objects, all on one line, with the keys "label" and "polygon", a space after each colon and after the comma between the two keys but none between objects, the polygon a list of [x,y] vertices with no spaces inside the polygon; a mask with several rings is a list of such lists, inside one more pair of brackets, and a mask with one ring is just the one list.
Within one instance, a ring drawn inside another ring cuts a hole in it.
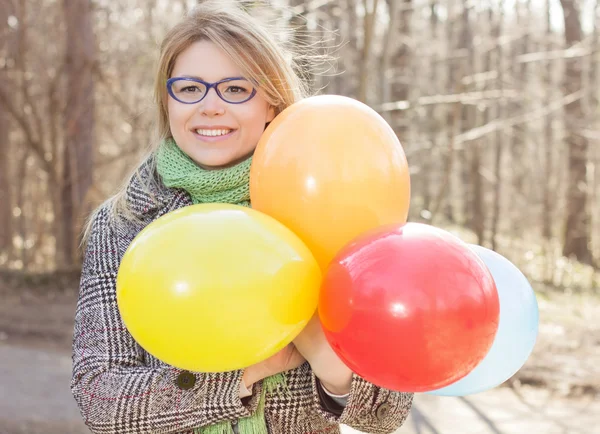
[{"label": "green knitted scarf part wrapped around the woman's neck", "polygon": [[198,166],[173,139],[158,148],[156,166],[167,187],[182,188],[197,203],[232,203],[250,206],[250,165],[252,157],[225,169],[207,170]]}]

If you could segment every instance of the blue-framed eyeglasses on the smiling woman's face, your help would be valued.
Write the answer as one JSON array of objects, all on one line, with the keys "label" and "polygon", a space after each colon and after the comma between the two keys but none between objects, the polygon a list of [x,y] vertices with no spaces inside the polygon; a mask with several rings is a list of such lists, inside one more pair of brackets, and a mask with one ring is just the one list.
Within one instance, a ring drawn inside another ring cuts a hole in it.
[{"label": "blue-framed eyeglasses on the smiling woman's face", "polygon": [[167,80],[169,95],[183,104],[202,101],[212,88],[219,98],[229,104],[241,104],[256,95],[256,88],[244,77],[225,78],[215,83],[192,77],[172,77]]}]

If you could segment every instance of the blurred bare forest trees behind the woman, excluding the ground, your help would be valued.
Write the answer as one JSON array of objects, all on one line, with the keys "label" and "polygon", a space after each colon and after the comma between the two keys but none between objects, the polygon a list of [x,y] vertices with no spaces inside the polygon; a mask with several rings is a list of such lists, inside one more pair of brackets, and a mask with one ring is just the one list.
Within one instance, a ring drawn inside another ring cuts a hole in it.
[{"label": "blurred bare forest trees behind the woman, excluding the ground", "polygon": [[[392,125],[413,221],[553,286],[598,285],[600,1],[238,3],[337,58],[305,72],[315,93]],[[2,0],[0,267],[78,266],[85,216],[152,139],[157,45],[193,4]]]}]

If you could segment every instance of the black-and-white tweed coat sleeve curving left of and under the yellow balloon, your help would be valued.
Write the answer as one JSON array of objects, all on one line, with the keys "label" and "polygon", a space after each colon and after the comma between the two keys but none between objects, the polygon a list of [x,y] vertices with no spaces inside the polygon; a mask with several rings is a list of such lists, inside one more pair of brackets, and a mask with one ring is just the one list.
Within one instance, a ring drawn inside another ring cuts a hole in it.
[{"label": "black-and-white tweed coat sleeve curving left of and under the yellow balloon", "polygon": [[[102,208],[86,248],[75,313],[71,390],[94,433],[177,433],[249,416],[239,396],[243,371],[187,372],[145,364],[116,300],[119,237]],[[122,250],[122,249],[121,249]],[[256,385],[260,388],[260,385]],[[258,392],[258,393],[257,393]]]}]

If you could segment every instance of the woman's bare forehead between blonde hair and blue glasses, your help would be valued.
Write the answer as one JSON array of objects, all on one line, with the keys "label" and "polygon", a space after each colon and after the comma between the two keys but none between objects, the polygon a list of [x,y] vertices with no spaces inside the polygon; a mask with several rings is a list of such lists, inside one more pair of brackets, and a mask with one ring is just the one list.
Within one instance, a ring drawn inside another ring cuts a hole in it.
[{"label": "woman's bare forehead between blonde hair and blue glasses", "polygon": [[172,77],[194,76],[206,81],[218,81],[242,76],[240,68],[211,41],[197,41],[175,59]]}]

